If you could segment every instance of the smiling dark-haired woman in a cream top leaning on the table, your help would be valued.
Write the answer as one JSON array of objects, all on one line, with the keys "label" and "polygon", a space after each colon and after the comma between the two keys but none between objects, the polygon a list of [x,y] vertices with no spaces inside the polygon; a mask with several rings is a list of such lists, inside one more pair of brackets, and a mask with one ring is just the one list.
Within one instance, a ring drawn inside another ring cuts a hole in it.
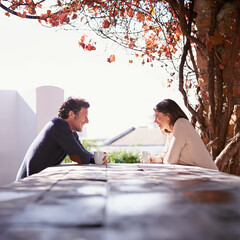
[{"label": "smiling dark-haired woman in a cream top leaning on the table", "polygon": [[154,122],[167,133],[165,148],[151,163],[181,164],[218,170],[202,139],[188,121],[186,114],[171,99],[165,99],[154,108]]}]

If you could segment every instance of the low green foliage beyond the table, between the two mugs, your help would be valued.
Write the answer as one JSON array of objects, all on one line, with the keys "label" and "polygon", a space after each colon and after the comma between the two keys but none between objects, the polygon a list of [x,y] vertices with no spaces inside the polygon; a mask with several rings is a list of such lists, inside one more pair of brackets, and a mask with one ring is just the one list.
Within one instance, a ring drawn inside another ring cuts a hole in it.
[{"label": "low green foliage beyond the table, between the two mugs", "polygon": [[114,150],[108,152],[109,163],[140,163],[139,152]]}]

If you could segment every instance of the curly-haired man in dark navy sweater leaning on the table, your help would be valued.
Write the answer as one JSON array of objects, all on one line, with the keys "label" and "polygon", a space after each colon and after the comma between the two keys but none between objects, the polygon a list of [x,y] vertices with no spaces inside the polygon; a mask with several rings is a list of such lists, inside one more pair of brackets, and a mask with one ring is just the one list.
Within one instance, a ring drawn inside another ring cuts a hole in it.
[{"label": "curly-haired man in dark navy sweater leaning on the table", "polygon": [[[69,98],[62,104],[58,118],[48,122],[29,147],[16,181],[59,165],[67,154],[78,164],[94,163],[94,155],[83,147],[76,132],[81,132],[89,122],[89,107],[89,103],[81,98]],[[107,161],[105,157],[104,164]]]}]

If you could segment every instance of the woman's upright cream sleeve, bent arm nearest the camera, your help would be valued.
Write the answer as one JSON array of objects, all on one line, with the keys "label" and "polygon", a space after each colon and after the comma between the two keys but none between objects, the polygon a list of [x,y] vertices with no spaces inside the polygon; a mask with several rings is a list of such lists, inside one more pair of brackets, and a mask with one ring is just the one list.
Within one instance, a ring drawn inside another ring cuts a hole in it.
[{"label": "woman's upright cream sleeve, bent arm nearest the camera", "polygon": [[186,143],[185,126],[180,121],[176,121],[173,127],[172,138],[169,143],[167,155],[164,158],[166,164],[177,164],[181,151]]}]

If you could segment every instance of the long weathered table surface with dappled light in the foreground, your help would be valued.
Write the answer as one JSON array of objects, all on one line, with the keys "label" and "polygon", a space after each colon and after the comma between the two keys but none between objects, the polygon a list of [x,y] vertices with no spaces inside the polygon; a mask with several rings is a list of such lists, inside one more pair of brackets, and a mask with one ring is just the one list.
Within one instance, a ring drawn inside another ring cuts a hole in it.
[{"label": "long weathered table surface with dappled light in the foreground", "polygon": [[162,164],[61,165],[0,188],[1,240],[240,240],[240,178]]}]

